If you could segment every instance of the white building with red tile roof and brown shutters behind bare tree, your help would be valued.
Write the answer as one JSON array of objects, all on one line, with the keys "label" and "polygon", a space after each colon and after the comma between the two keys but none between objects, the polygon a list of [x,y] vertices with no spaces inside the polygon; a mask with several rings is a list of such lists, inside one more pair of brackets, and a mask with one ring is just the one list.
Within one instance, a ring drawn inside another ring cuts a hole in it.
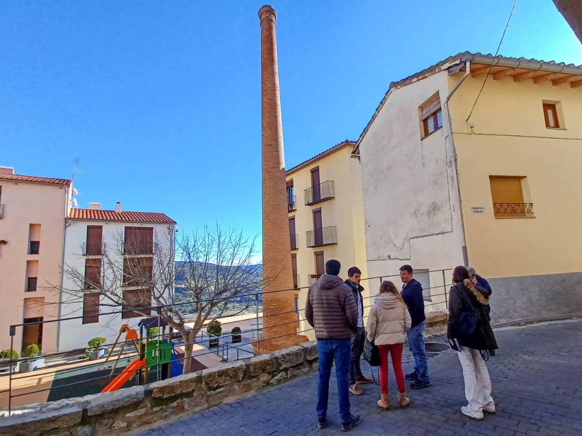
[{"label": "white building with red tile roof and brown shutters behind bare tree", "polygon": [[[135,328],[143,316],[133,312],[102,315],[151,305],[151,290],[136,276],[145,274],[154,283],[163,265],[172,265],[176,221],[164,213],[115,210],[70,210],[65,231],[65,256],[61,292],[62,319],[58,322],[58,350],[87,346],[94,337],[115,341],[122,324]],[[96,292],[96,285],[122,296],[129,305],[116,306]],[[173,285],[173,284],[172,284]],[[154,313],[152,313],[154,315]],[[122,338],[123,339],[123,338]]]}]

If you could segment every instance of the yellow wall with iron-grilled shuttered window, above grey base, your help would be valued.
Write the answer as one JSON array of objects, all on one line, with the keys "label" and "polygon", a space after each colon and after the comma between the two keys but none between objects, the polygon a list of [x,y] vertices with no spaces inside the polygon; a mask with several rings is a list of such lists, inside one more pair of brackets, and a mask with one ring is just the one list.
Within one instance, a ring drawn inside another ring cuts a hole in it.
[{"label": "yellow wall with iron-grilled shuttered window, above grey base", "polygon": [[[485,277],[582,271],[582,89],[489,77],[471,134],[482,81],[468,77],[449,101],[471,266]],[[542,100],[561,102],[565,129],[545,127]],[[526,176],[534,217],[495,218],[489,176]]]}]

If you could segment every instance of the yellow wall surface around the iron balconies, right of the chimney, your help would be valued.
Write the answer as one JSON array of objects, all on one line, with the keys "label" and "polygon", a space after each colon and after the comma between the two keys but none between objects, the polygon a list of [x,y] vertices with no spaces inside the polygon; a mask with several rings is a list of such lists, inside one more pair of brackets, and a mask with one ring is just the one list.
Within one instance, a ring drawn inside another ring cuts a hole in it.
[{"label": "yellow wall surface around the iron balconies, right of the chimney", "polygon": [[[315,273],[315,251],[324,252],[324,261],[336,259],[342,264],[340,277],[347,278],[347,270],[357,266],[362,271],[362,277],[367,277],[365,262],[364,240],[364,212],[362,205],[360,164],[356,159],[350,158],[353,146],[339,146],[338,149],[314,159],[308,165],[287,174],[287,180],[293,179],[294,194],[296,195],[295,212],[289,216],[295,217],[295,229],[298,249],[292,251],[297,255],[297,273],[299,274],[299,308],[300,319],[304,319],[305,302],[309,287],[308,277]],[[303,191],[311,187],[310,170],[320,167],[320,182],[333,180],[335,198],[318,203],[313,206],[304,205]],[[322,223],[324,227],[336,226],[337,241],[335,245],[317,248],[307,248],[306,231],[313,230],[313,209],[321,208]],[[368,294],[368,285],[362,281]],[[374,283],[375,286],[375,283]],[[374,292],[375,295],[375,292]],[[367,301],[367,300],[365,300]],[[367,305],[367,303],[364,303]],[[311,328],[307,321],[302,321],[300,330]],[[310,339],[314,339],[313,330],[306,332]]]}]

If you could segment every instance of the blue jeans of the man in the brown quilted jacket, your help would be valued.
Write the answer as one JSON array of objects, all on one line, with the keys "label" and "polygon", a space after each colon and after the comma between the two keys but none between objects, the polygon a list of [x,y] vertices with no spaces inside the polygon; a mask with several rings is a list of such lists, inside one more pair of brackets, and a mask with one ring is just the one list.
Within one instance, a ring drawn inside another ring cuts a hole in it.
[{"label": "blue jeans of the man in the brown quilted jacket", "polygon": [[351,339],[317,339],[317,355],[320,359],[320,375],[317,381],[317,416],[327,415],[329,377],[335,360],[335,376],[338,379],[339,416],[342,423],[350,420],[350,355]]}]

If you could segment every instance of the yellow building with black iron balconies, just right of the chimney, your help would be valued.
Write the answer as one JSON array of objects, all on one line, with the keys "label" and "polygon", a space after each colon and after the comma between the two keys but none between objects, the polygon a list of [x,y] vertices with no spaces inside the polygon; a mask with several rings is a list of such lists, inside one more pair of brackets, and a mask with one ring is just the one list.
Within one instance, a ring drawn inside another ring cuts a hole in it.
[{"label": "yellow building with black iron balconies, just right of the chimney", "polygon": [[[329,259],[342,264],[343,279],[352,266],[360,268],[362,277],[368,277],[360,164],[350,158],[354,145],[352,141],[341,142],[286,171],[293,281],[300,319],[304,318],[307,290],[324,273]],[[367,280],[361,284],[366,297],[370,285]],[[373,281],[371,286],[378,287],[378,283]],[[299,330],[308,328],[307,321],[300,321]],[[314,338],[313,331],[306,334]]]}]

